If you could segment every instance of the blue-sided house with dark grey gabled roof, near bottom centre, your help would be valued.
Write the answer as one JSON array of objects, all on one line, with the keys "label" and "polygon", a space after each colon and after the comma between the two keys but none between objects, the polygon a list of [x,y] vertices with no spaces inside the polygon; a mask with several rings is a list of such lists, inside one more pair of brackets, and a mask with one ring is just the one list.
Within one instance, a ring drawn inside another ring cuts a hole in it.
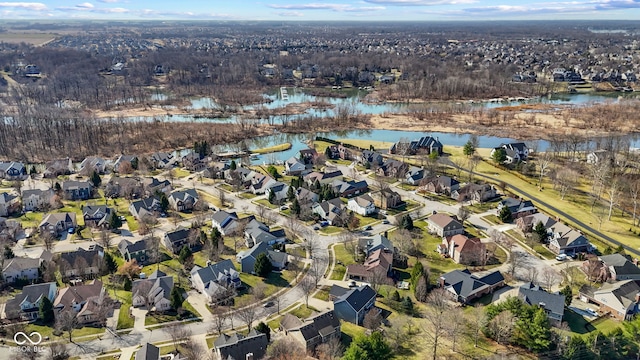
[{"label": "blue-sided house with dark grey gabled roof, near bottom centre", "polygon": [[333,311],[340,320],[362,324],[364,316],[376,303],[377,293],[369,285],[362,285],[333,300]]}]

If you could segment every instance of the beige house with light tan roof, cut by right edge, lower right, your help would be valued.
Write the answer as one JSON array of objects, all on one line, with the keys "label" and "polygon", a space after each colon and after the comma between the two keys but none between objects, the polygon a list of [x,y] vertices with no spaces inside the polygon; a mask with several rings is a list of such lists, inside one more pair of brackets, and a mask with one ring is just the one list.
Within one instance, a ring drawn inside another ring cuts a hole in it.
[{"label": "beige house with light tan roof, cut by right edge, lower right", "polygon": [[580,299],[600,306],[599,313],[624,321],[640,313],[640,284],[635,280],[605,283],[600,289],[584,285]]}]

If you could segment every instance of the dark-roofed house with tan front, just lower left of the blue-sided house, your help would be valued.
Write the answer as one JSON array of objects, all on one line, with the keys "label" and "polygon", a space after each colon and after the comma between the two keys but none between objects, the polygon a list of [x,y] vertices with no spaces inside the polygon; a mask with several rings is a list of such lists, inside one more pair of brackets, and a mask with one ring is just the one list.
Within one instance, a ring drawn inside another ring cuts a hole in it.
[{"label": "dark-roofed house with tan front, just lower left of the blue-sided house", "polygon": [[280,330],[302,345],[307,352],[313,352],[316,346],[331,339],[339,340],[342,335],[340,319],[333,310],[311,315],[304,320],[287,313],[280,321]]}]

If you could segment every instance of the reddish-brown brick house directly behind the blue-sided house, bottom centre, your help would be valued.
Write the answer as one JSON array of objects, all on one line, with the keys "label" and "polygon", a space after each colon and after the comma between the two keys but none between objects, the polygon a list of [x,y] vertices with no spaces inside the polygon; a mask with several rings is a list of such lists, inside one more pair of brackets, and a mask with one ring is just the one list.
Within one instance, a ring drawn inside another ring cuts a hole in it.
[{"label": "reddish-brown brick house directly behind the blue-sided house, bottom centre", "polygon": [[378,249],[372,251],[364,264],[347,265],[347,278],[369,283],[393,284],[393,250]]}]

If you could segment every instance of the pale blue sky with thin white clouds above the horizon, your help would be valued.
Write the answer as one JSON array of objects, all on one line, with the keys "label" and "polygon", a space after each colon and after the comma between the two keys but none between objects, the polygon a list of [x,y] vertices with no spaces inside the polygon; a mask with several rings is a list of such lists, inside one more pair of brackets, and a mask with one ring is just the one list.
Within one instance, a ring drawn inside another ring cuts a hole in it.
[{"label": "pale blue sky with thin white clouds above the horizon", "polygon": [[640,0],[0,0],[0,20],[640,20]]}]

